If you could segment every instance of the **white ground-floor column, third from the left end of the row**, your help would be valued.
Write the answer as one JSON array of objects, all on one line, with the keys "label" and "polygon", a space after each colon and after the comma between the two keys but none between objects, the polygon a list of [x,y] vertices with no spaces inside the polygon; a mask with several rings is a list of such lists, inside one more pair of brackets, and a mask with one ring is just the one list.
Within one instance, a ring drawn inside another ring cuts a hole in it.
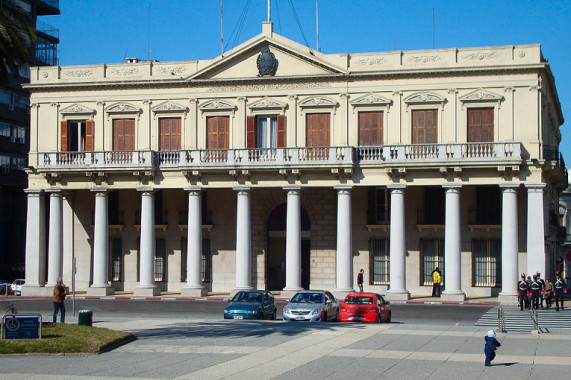
[{"label": "white ground-floor column, third from the left end of the row", "polygon": [[107,189],[95,192],[95,226],[93,230],[93,284],[88,295],[106,296],[113,293],[109,285],[109,213]]}]

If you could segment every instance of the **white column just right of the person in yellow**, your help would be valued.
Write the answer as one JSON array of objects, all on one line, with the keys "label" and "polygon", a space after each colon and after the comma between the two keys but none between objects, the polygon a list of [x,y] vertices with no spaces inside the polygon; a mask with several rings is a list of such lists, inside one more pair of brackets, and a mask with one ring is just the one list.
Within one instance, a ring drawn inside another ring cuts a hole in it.
[{"label": "white column just right of the person in yellow", "polygon": [[466,294],[461,289],[461,250],[460,250],[460,187],[445,186],[446,221],[444,226],[444,291],[443,301],[464,301]]}]

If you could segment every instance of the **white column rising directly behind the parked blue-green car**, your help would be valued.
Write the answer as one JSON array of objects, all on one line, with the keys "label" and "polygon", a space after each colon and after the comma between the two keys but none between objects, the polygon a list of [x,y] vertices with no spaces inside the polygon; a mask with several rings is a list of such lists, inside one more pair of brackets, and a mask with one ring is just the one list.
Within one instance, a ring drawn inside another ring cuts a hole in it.
[{"label": "white column rising directly behind the parked blue-green car", "polygon": [[251,282],[251,221],[250,221],[250,188],[234,188],[238,192],[236,215],[236,288],[252,289]]}]

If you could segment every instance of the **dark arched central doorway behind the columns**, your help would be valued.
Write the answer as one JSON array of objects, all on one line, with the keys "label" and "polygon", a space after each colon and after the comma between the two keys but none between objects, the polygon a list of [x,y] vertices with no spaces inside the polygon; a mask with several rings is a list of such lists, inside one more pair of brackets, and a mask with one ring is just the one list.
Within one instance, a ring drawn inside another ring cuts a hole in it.
[{"label": "dark arched central doorway behind the columns", "polygon": [[[287,204],[276,206],[268,217],[268,249],[266,252],[266,286],[268,290],[285,288],[285,249],[286,249]],[[309,289],[310,240],[309,215],[301,208],[301,286]]]}]

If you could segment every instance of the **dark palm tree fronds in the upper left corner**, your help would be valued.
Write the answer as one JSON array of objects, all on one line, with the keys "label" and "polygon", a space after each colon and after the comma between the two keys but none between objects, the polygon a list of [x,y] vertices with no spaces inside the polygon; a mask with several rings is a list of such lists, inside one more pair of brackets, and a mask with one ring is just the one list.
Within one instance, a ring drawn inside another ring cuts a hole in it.
[{"label": "dark palm tree fronds in the upper left corner", "polygon": [[36,30],[29,14],[15,0],[0,0],[0,86],[30,58]]}]

